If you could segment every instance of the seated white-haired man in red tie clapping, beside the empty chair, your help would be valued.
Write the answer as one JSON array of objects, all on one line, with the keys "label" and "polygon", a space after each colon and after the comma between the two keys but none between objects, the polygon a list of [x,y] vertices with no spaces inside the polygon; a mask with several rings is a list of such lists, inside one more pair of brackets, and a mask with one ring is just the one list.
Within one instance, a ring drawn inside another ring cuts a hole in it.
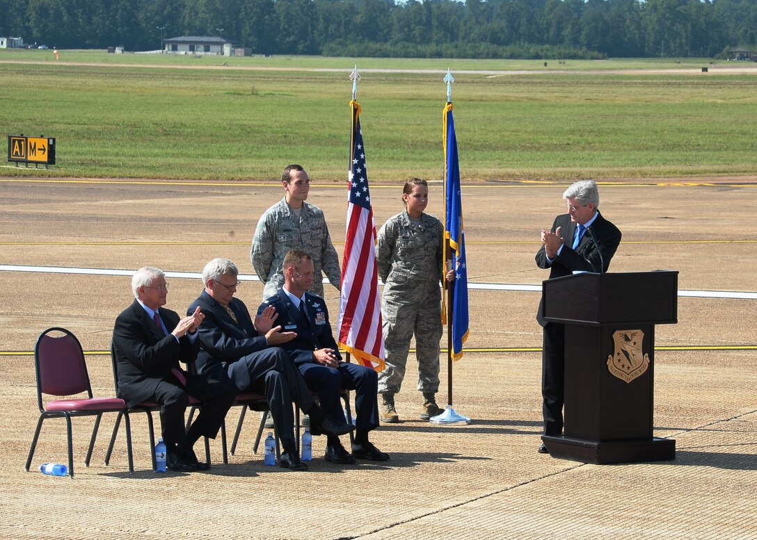
[{"label": "seated white-haired man in red tie clapping, beside the empty chair", "polygon": [[[218,380],[185,373],[179,360],[195,362],[200,342],[197,329],[203,321],[197,309],[179,320],[162,306],[168,284],[158,268],[145,266],[132,278],[134,303],[116,318],[114,354],[118,362],[118,396],[133,407],[151,401],[160,405],[160,427],[171,470],[205,470],[192,446],[201,437],[215,439],[235,389]],[[203,402],[200,414],[184,430],[188,395]]]}]

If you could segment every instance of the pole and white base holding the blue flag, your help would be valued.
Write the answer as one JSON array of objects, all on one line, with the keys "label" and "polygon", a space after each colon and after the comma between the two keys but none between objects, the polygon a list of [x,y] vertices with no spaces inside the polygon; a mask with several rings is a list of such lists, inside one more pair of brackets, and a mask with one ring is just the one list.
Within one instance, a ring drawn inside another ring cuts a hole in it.
[{"label": "pole and white base holding the blue flag", "polygon": [[[452,246],[450,244],[450,238],[447,238],[447,212],[449,204],[448,204],[448,192],[447,192],[447,176],[448,176],[448,166],[449,166],[449,160],[448,160],[448,152],[449,148],[447,147],[447,144],[449,144],[450,141],[447,140],[447,111],[452,109],[452,83],[455,82],[455,79],[452,76],[452,73],[450,72],[450,69],[447,68],[447,75],[444,76],[444,83],[447,84],[447,106],[444,107],[444,134],[443,134],[443,141],[444,141],[444,175],[442,176],[442,188],[444,190],[444,228],[445,228],[445,239],[444,239],[444,272],[442,272],[442,286],[444,288],[444,294],[442,295],[442,310],[441,310],[441,317],[442,322],[447,324],[447,406],[444,408],[444,412],[441,414],[438,414],[435,417],[431,417],[429,421],[435,423],[435,424],[470,424],[471,419],[467,416],[463,416],[462,414],[458,414],[453,405],[452,405],[452,360],[453,360],[453,321],[454,321],[454,290],[453,287],[449,287],[447,284],[447,270],[451,269],[451,265],[453,263],[452,259]],[[456,141],[453,141],[453,144],[456,144]],[[444,306],[444,300],[446,299],[446,309]]]}]

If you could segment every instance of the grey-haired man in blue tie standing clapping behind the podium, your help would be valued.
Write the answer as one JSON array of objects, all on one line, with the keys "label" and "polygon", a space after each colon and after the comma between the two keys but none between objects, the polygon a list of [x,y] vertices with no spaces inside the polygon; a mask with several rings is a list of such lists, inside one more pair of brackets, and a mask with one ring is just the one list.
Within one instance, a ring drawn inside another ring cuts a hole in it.
[{"label": "grey-haired man in blue tie standing clapping behind the podium", "polygon": [[[539,268],[550,268],[550,279],[576,272],[606,272],[620,244],[621,231],[600,214],[597,183],[584,180],[562,194],[568,213],[555,218],[550,231],[541,230],[542,246],[536,254]],[[537,321],[544,327],[541,395],[544,399],[544,435],[562,435],[565,401],[565,325],[543,318],[544,299]],[[547,454],[542,444],[539,452]]]}]

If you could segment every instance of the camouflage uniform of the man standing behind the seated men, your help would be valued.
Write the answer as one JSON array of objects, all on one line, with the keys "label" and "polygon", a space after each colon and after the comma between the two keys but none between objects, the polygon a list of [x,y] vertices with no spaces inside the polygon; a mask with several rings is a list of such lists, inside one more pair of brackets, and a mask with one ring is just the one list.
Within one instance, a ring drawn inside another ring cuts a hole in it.
[{"label": "camouflage uniform of the man standing behind the seated men", "polygon": [[289,250],[304,250],[313,257],[313,285],[309,292],[323,295],[321,270],[337,289],[341,280],[339,257],[326,227],[326,218],[317,206],[302,203],[300,222],[286,199],[267,209],[257,222],[252,239],[250,260],[255,273],[266,286],[263,299],[276,294],[284,286],[282,262]]}]

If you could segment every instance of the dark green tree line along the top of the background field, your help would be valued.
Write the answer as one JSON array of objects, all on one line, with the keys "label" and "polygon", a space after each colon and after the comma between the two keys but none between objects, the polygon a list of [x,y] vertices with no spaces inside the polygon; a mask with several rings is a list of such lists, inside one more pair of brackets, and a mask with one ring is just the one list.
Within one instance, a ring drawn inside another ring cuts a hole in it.
[{"label": "dark green tree line along the top of the background field", "polygon": [[0,36],[127,51],[159,49],[161,36],[350,57],[718,57],[757,45],[755,0],[0,0],[0,13]]}]

